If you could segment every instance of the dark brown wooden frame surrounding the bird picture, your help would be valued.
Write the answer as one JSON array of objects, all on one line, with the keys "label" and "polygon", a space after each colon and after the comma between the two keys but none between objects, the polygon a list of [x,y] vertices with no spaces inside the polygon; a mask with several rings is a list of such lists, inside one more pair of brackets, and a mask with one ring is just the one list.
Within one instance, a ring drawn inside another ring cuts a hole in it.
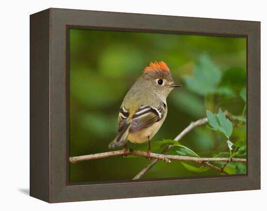
[{"label": "dark brown wooden frame surrounding the bird picture", "polygon": [[[68,27],[247,38],[248,174],[68,184]],[[30,195],[54,202],[260,189],[260,22],[50,8],[30,16]]]}]

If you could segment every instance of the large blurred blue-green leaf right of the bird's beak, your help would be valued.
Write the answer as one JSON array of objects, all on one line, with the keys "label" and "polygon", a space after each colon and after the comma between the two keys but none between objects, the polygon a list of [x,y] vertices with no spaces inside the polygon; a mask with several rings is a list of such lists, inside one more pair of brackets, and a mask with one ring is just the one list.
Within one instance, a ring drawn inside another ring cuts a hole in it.
[{"label": "large blurred blue-green leaf right of the bird's beak", "polygon": [[206,54],[202,54],[194,69],[194,77],[184,77],[186,87],[197,94],[214,93],[221,79],[221,71]]}]

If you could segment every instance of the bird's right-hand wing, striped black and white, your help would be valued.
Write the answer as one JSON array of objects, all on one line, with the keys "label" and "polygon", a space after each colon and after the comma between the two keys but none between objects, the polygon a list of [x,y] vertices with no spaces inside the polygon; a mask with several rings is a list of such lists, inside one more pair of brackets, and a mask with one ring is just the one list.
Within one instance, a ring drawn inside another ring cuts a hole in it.
[{"label": "bird's right-hand wing, striped black and white", "polygon": [[164,117],[163,106],[153,107],[141,105],[132,116],[130,132],[136,132],[143,128],[150,127],[153,123],[160,121]]}]

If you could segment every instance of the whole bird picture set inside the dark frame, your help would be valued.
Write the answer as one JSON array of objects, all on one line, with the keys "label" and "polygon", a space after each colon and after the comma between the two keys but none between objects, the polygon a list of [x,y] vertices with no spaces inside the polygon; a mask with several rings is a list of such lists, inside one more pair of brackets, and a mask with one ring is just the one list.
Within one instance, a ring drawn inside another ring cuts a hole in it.
[{"label": "whole bird picture set inside the dark frame", "polygon": [[69,183],[247,174],[246,37],[67,33]]}]

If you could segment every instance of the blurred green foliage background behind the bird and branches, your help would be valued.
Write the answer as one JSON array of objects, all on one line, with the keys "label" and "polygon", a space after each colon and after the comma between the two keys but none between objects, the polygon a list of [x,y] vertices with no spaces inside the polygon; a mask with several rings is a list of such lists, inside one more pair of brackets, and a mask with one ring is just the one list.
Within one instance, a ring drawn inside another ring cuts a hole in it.
[{"label": "blurred green foliage background behind the bird and branches", "polygon": [[[168,115],[153,141],[174,139],[189,123],[220,107],[245,117],[240,91],[246,87],[246,38],[173,35],[88,29],[69,30],[70,121],[69,156],[109,151],[117,135],[117,115],[123,97],[151,61],[164,61],[175,82],[183,84],[167,98]],[[246,124],[234,123],[231,141],[246,139]],[[200,126],[182,144],[201,157],[228,152],[225,137]],[[147,149],[147,144],[129,148]],[[168,154],[177,155],[175,147]],[[112,157],[69,165],[69,182],[132,179],[150,161]],[[196,167],[196,168],[194,168]],[[192,162],[158,162],[144,177],[208,176]],[[244,163],[229,163],[230,174],[245,173]]]}]

